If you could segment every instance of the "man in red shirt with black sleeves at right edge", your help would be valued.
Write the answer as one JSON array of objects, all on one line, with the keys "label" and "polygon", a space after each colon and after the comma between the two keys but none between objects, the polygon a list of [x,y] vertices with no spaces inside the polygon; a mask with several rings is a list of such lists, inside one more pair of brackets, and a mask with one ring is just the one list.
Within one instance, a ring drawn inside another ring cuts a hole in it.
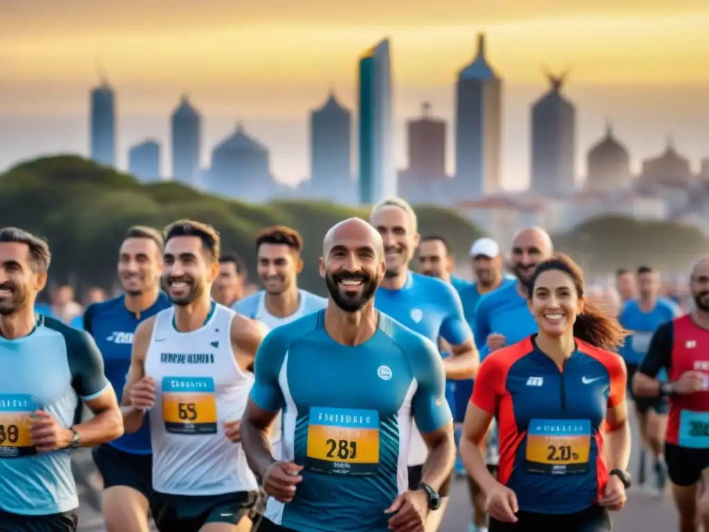
[{"label": "man in red shirt with black sleeves at right edge", "polygon": [[[691,314],[659,326],[633,379],[638,397],[669,397],[665,460],[680,532],[699,530],[700,491],[704,530],[709,530],[709,258],[694,265],[690,287]],[[662,370],[669,382],[657,378]]]}]

